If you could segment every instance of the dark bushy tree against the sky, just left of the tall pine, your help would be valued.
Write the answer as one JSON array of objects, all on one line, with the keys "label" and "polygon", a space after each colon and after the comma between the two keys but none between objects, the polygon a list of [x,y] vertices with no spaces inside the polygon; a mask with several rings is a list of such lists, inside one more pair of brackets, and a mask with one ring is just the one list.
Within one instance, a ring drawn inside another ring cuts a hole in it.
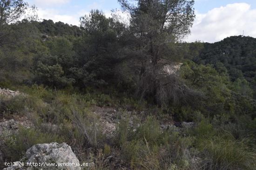
[{"label": "dark bushy tree against the sky, just left of the tall pine", "polygon": [[73,70],[78,75],[85,74],[82,84],[95,82],[94,85],[102,85],[105,84],[103,82],[113,82],[115,66],[119,63],[118,52],[124,25],[113,18],[107,18],[99,10],[92,10],[89,15],[81,17],[80,23],[84,31],[83,47],[78,59],[80,69]]}]

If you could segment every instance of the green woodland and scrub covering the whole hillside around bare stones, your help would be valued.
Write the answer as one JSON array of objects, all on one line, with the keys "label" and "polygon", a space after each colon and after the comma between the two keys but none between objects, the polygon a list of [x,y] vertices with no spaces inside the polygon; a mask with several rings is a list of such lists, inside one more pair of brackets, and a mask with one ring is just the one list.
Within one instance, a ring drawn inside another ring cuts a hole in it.
[{"label": "green woodland and scrub covering the whole hillside around bare stones", "polygon": [[[12,153],[7,159],[18,160],[36,142],[55,140],[78,152],[93,148],[97,170],[255,169],[256,38],[185,43],[182,38],[195,18],[193,0],[137,0],[136,6],[119,2],[131,15],[129,25],[115,13],[107,18],[99,10],[82,16],[80,26],[1,15],[0,88],[19,89],[29,96],[13,101],[2,97],[0,117],[29,111],[36,125],[35,132],[20,129],[20,140],[7,140],[4,151]],[[166,71],[177,65],[180,68],[172,73]],[[81,119],[75,124],[93,127],[91,106],[121,110],[113,139],[97,132],[96,140],[93,128],[92,134],[84,135],[81,127],[67,126],[74,124],[76,113]],[[136,132],[129,127],[128,111],[141,122]],[[162,132],[164,117],[197,126]],[[50,136],[42,122],[66,126]],[[26,135],[32,137],[24,145]],[[101,162],[110,155],[115,161]],[[194,156],[201,162],[195,164]]]}]

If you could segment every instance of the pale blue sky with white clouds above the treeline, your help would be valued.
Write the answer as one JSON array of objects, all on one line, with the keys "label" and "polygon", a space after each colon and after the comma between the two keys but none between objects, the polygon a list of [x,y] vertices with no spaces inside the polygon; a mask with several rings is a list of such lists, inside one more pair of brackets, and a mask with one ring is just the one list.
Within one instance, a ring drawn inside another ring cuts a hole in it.
[{"label": "pale blue sky with white clouds above the treeline", "polygon": [[[79,25],[79,17],[91,9],[100,9],[110,16],[111,9],[120,9],[117,0],[27,0],[38,7],[40,19]],[[195,22],[185,39],[193,42],[216,42],[242,35],[256,38],[256,0],[195,0]]]}]

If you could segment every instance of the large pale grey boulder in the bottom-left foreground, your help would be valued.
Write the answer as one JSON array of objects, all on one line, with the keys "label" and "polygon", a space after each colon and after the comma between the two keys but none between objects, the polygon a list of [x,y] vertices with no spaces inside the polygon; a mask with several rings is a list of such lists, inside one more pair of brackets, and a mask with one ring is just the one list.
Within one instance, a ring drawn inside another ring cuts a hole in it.
[{"label": "large pale grey boulder in the bottom-left foreground", "polygon": [[[4,170],[81,170],[81,167],[78,166],[78,159],[74,155],[70,146],[66,143],[33,145],[27,150],[26,158],[24,160],[26,161],[23,166],[11,166]],[[30,164],[33,165],[33,163],[37,164],[37,166],[30,166]],[[51,166],[47,166],[47,164],[44,163],[52,164]],[[60,165],[61,163],[63,164]],[[71,164],[73,164],[73,166]]]}]

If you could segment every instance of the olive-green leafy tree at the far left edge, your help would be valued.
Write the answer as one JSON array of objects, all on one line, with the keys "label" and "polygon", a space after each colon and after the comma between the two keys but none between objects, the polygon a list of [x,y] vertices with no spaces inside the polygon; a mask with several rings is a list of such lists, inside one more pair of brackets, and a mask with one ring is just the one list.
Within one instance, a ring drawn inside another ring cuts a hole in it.
[{"label": "olive-green leafy tree at the far left edge", "polygon": [[0,79],[9,77],[13,82],[26,81],[31,76],[29,70],[34,53],[41,48],[40,32],[25,19],[5,27],[8,34],[5,34],[5,44],[0,45]]}]

